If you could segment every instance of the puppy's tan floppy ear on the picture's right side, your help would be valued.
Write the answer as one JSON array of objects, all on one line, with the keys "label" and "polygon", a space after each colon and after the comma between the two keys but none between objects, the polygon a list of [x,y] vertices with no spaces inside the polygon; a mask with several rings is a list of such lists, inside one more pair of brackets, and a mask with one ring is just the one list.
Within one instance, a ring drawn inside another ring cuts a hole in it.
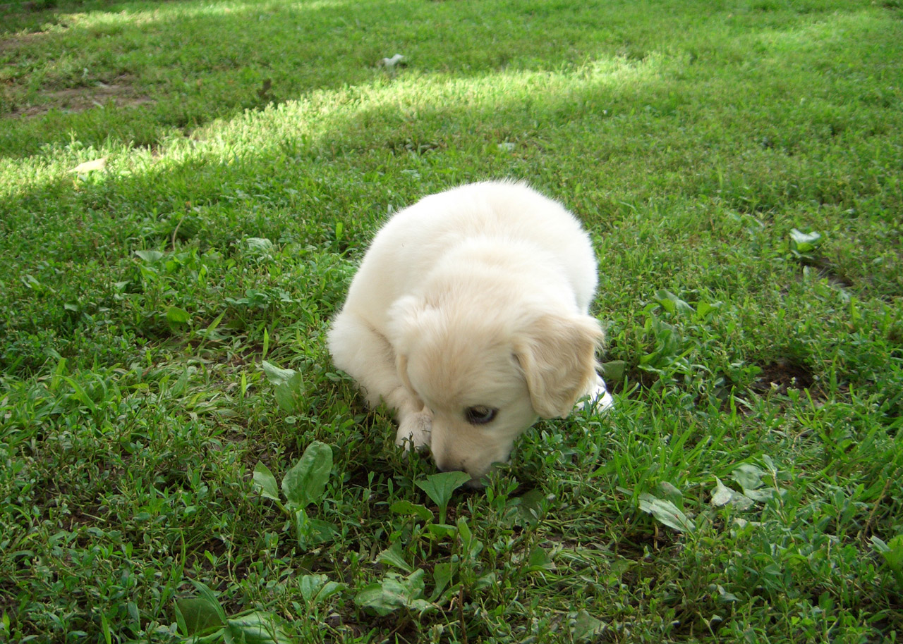
[{"label": "puppy's tan floppy ear on the picture's right side", "polygon": [[594,317],[559,315],[538,317],[515,336],[515,357],[542,418],[567,416],[590,388],[603,336]]}]

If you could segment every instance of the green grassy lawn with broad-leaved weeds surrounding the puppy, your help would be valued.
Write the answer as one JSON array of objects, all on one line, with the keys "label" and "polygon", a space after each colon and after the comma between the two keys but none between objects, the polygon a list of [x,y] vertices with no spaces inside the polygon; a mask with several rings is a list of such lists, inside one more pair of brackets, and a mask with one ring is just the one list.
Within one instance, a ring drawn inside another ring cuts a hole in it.
[{"label": "green grassy lawn with broad-leaved weeds surrounding the puppy", "polygon": [[[0,641],[900,639],[898,3],[0,12]],[[490,177],[591,231],[618,405],[449,500],[324,331]]]}]

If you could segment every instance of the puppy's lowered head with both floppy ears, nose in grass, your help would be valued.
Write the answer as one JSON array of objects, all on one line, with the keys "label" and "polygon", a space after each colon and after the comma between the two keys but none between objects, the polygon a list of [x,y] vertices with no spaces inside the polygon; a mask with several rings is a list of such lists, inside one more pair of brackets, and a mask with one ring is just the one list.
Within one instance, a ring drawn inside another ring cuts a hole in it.
[{"label": "puppy's lowered head with both floppy ears, nose in grass", "polygon": [[399,377],[433,413],[436,465],[476,485],[537,417],[567,416],[596,378],[602,331],[589,316],[440,308],[413,297],[391,315]]}]

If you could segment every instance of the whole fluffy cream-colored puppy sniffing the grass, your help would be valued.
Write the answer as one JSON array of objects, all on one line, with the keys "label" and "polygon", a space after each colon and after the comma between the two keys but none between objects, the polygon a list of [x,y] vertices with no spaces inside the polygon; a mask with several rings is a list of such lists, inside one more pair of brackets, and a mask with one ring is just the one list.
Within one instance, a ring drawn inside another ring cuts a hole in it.
[{"label": "whole fluffy cream-colored puppy sniffing the grass", "polygon": [[332,358],[371,405],[396,410],[398,445],[428,447],[473,483],[537,417],[611,398],[596,373],[589,237],[523,183],[431,195],[379,231],[332,323]]}]

